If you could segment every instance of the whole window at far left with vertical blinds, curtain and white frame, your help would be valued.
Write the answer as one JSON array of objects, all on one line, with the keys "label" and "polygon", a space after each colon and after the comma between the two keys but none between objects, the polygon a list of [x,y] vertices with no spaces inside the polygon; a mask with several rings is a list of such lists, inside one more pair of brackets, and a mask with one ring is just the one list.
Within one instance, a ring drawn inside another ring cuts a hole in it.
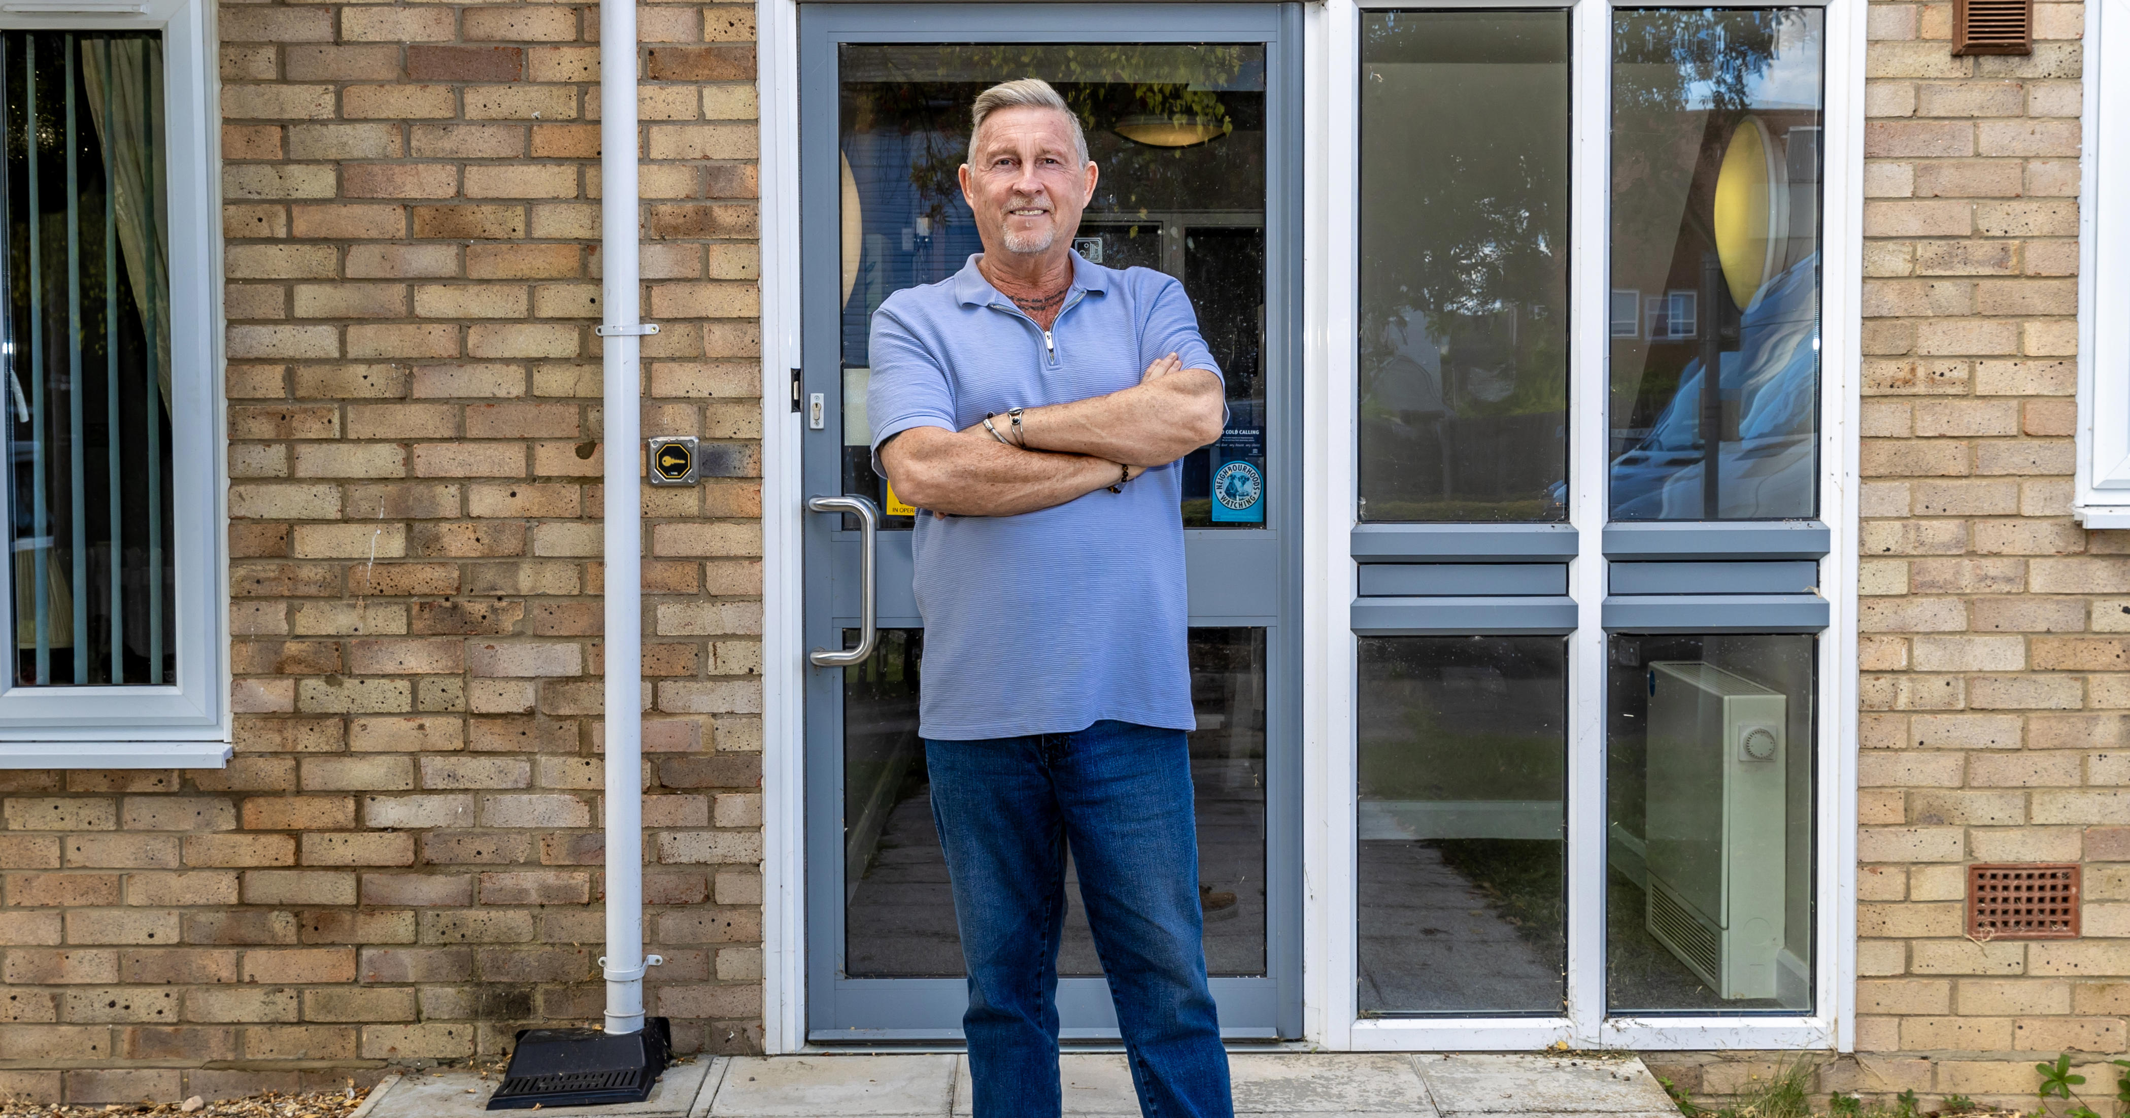
[{"label": "whole window at far left with vertical blinds, curtain and white frame", "polygon": [[0,26],[0,764],[228,756],[204,13]]}]

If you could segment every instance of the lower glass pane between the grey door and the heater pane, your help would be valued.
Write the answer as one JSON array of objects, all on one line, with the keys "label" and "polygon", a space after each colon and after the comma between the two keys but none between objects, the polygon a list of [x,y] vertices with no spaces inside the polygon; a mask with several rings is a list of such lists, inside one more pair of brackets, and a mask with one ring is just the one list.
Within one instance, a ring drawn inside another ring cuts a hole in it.
[{"label": "lower glass pane between the grey door and the heater pane", "polygon": [[1559,1014],[1568,641],[1359,641],[1359,1009]]}]

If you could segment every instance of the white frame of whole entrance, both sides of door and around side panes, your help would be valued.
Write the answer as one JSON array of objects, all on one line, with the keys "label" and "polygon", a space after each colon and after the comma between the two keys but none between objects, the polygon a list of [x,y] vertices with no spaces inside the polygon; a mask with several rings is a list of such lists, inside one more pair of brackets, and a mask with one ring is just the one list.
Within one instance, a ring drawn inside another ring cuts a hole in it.
[{"label": "white frame of whole entrance, both sides of door and around side panes", "polygon": [[[1304,718],[1304,1037],[1327,1050],[1536,1050],[1578,1048],[1851,1050],[1855,990],[1855,522],[1857,368],[1862,307],[1864,0],[1825,4],[1825,200],[1821,324],[1821,520],[1832,552],[1819,586],[1830,624],[1819,639],[1819,796],[1815,890],[1815,1005],[1810,1016],[1604,1018],[1604,775],[1602,752],[1570,754],[1570,1014],[1559,1018],[1372,1018],[1355,1009],[1355,652],[1348,607],[1355,564],[1355,392],[1359,383],[1357,187],[1359,13],[1365,6],[1472,6],[1474,0],[1361,4],[1312,2],[1304,15],[1304,407],[1306,535],[1301,607]],[[1485,2],[1485,0],[1480,0]],[[2107,0],[2130,4],[2130,0]],[[1506,6],[1534,6],[1531,2]],[[1551,4],[1549,4],[1551,6]],[[1627,6],[1627,4],[1621,4]],[[1687,6],[1687,4],[1683,4]],[[1691,4],[1706,6],[1706,4]],[[1776,4],[1753,4],[1776,6]],[[1129,17],[1127,17],[1129,19]],[[805,862],[801,835],[803,645],[799,562],[799,420],[790,371],[799,366],[799,151],[797,0],[756,0],[763,104],[763,594],[765,594],[765,1048],[805,1041]],[[1608,351],[1610,6],[1574,9],[1576,256],[1572,309],[1576,383],[1604,383]],[[1591,64],[1595,60],[1595,64]],[[1593,251],[1595,249],[1595,251]],[[1593,371],[1593,373],[1591,373]],[[1602,398],[1602,396],[1600,396]],[[1570,586],[1578,601],[1570,711],[1578,741],[1604,739],[1604,486],[1606,415],[1580,407],[1570,428],[1572,522],[1583,552]]]}]

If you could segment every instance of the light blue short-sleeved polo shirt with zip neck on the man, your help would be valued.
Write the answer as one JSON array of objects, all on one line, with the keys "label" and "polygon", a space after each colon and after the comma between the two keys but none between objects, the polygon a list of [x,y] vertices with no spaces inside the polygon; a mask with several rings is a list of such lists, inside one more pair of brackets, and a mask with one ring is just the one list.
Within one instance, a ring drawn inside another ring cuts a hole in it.
[{"label": "light blue short-sleeved polo shirt with zip neck on the man", "polygon": [[[1165,354],[1220,371],[1174,277],[1074,253],[1046,345],[978,260],[895,292],[873,313],[873,468],[880,443],[903,430],[963,430],[986,411],[1118,392]],[[918,733],[969,741],[1084,730],[1105,718],[1197,728],[1180,490],[1182,462],[1169,462],[1120,494],[1095,490],[1035,513],[941,520],[920,509]]]}]

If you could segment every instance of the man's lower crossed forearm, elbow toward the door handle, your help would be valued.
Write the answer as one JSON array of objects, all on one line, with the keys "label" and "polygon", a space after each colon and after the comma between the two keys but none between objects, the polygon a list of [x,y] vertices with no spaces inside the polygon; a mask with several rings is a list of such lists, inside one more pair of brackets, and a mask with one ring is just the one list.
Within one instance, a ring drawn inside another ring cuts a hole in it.
[{"label": "man's lower crossed forearm, elbow toward the door handle", "polygon": [[[1007,447],[984,428],[912,428],[880,447],[895,494],[952,515],[1018,515],[1116,486],[1116,462]],[[1137,473],[1137,471],[1133,471]]]}]

